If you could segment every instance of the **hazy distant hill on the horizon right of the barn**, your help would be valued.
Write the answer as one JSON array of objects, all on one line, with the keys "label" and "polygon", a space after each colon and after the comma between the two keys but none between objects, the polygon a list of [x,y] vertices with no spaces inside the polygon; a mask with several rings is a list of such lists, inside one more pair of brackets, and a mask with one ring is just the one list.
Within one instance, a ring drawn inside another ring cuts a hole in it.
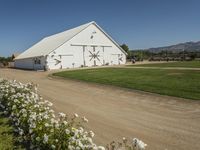
[{"label": "hazy distant hill on the horizon right of the barn", "polygon": [[200,41],[180,43],[180,44],[165,46],[165,47],[149,48],[146,50],[154,52],[154,53],[159,53],[161,51],[181,52],[183,50],[188,51],[188,52],[197,52],[197,51],[200,52]]}]

